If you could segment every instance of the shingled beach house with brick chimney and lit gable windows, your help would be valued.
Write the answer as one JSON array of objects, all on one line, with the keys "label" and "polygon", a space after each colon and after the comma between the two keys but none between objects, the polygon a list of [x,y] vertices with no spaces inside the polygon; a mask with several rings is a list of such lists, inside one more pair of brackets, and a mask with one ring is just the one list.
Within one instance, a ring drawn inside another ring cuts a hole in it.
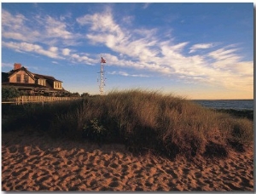
[{"label": "shingled beach house with brick chimney and lit gable windows", "polygon": [[32,73],[20,63],[15,63],[13,70],[2,72],[2,87],[8,86],[26,91],[27,94],[60,96],[69,93],[62,87],[60,80],[55,79],[55,77]]}]

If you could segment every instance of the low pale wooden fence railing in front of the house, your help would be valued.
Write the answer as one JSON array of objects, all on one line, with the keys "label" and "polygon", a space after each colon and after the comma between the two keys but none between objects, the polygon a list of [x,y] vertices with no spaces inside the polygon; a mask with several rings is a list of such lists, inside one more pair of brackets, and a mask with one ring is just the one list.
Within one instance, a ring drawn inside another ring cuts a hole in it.
[{"label": "low pale wooden fence railing in front of the house", "polygon": [[20,97],[3,101],[2,103],[13,103],[16,105],[32,103],[32,102],[51,102],[51,101],[64,101],[64,100],[79,100],[80,97],[52,97],[52,96],[26,96],[22,95]]}]

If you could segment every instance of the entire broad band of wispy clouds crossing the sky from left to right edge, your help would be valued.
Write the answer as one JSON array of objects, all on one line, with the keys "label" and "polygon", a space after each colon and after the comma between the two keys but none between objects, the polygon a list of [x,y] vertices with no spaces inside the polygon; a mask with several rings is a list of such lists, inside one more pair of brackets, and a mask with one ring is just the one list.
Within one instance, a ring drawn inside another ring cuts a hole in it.
[{"label": "entire broad band of wispy clouds crossing the sky from left to right edge", "polygon": [[[145,4],[146,8],[148,4]],[[132,21],[125,26],[114,20],[113,12],[85,14],[73,21],[84,29],[84,34],[75,32],[72,24],[62,16],[37,15],[28,19],[22,14],[2,12],[3,42],[5,48],[18,52],[41,54],[55,60],[69,60],[72,63],[94,65],[98,54],[79,53],[73,45],[90,43],[95,47],[108,48],[104,54],[107,66],[129,67],[144,71],[144,74],[128,74],[112,71],[112,75],[147,77],[154,72],[160,76],[175,77],[185,83],[218,85],[225,88],[253,89],[253,61],[243,61],[237,54],[237,45],[221,43],[175,42],[168,39],[160,29],[135,28]],[[124,20],[126,20],[124,18]],[[27,36],[29,34],[30,36]],[[199,50],[204,54],[199,54]]]}]

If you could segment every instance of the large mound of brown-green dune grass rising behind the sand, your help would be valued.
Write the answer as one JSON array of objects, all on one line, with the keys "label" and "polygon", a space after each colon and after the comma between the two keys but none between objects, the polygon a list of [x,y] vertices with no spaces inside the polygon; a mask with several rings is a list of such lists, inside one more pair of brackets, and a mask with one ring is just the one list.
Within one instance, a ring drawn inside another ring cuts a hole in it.
[{"label": "large mound of brown-green dune grass rising behind the sand", "polygon": [[53,137],[123,143],[134,152],[227,157],[253,142],[253,122],[213,111],[172,94],[113,91],[107,95],[43,106],[24,106],[6,129],[39,128]]}]

